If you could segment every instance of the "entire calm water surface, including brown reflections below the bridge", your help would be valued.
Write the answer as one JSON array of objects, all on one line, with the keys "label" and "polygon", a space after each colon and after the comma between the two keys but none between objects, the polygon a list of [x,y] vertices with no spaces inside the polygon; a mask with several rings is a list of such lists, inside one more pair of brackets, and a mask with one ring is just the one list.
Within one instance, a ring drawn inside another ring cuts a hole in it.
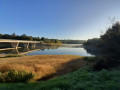
[{"label": "entire calm water surface, including brown reflections below the bridge", "polygon": [[82,48],[81,44],[65,44],[63,47],[43,46],[37,48],[20,48],[18,50],[3,50],[0,51],[0,54],[92,56]]}]

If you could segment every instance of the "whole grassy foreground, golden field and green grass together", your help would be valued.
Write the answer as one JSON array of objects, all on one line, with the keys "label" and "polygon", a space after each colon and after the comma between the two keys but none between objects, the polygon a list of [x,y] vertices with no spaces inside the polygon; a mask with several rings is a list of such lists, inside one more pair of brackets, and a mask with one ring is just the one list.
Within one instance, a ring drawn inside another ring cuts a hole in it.
[{"label": "whole grassy foreground, golden field and green grass together", "polygon": [[[7,72],[4,81],[17,81],[1,83],[0,90],[120,90],[120,69],[93,71],[88,66],[96,59],[73,55],[0,58],[0,72]],[[33,74],[32,81],[37,82],[18,83],[29,81]]]}]

